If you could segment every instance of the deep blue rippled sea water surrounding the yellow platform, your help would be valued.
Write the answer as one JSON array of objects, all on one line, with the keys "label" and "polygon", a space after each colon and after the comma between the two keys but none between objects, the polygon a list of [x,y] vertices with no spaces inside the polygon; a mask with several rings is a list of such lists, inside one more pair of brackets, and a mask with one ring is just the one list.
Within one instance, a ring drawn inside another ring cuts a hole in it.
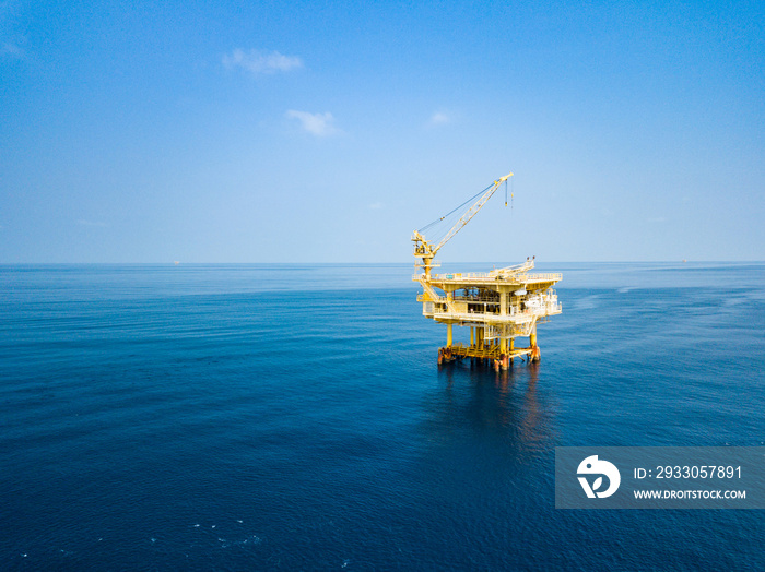
[{"label": "deep blue rippled sea water surrounding the yellow platform", "polygon": [[765,264],[538,267],[497,374],[407,264],[0,266],[0,567],[765,569],[763,511],[556,510],[553,464],[763,445]]}]

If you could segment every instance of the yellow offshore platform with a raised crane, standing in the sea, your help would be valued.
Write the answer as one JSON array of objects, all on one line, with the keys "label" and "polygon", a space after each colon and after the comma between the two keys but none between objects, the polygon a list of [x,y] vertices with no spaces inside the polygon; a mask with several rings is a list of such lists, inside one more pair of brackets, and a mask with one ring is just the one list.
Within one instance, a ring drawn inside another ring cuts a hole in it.
[{"label": "yellow offshore platform with a raised crane, standing in the sea", "polygon": [[[440,266],[434,260],[436,253],[478,214],[503,183],[507,205],[507,180],[510,177],[511,172],[497,179],[451,213],[415,230],[412,236],[414,255],[420,259],[415,263],[415,269],[420,270],[412,279],[423,288],[417,296],[417,301],[422,302],[422,313],[425,318],[446,324],[446,346],[438,349],[439,365],[472,358],[492,362],[495,369],[507,369],[515,358],[539,361],[537,325],[561,313],[561,303],[553,286],[563,276],[557,273],[530,273],[534,267],[533,258],[486,273],[433,273],[433,269]],[[470,206],[463,212],[468,204]],[[455,213],[461,216],[437,243],[425,239],[424,231],[435,228]],[[470,327],[469,345],[454,343],[455,325]],[[517,346],[518,337],[528,338],[528,346]]]}]

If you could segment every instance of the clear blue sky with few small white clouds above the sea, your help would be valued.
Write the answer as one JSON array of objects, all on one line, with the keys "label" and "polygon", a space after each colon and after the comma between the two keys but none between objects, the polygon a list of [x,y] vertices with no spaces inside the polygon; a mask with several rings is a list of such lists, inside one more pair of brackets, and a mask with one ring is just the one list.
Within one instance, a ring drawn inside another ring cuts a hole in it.
[{"label": "clear blue sky with few small white clouds above the sea", "polygon": [[361,4],[0,3],[0,263],[765,259],[764,2]]}]

